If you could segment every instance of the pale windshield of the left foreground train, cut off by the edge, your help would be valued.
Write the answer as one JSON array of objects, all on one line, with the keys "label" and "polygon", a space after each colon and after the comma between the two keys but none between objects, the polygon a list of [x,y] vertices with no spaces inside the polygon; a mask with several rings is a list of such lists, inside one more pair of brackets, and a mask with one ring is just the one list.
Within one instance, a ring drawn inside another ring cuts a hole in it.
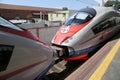
[{"label": "pale windshield of the left foreground train, cut off by the edge", "polygon": [[9,28],[9,29],[20,30],[20,31],[23,30],[23,29],[19,28],[18,26],[12,24],[11,22],[3,19],[2,17],[0,17],[0,27],[5,27],[5,28]]}]

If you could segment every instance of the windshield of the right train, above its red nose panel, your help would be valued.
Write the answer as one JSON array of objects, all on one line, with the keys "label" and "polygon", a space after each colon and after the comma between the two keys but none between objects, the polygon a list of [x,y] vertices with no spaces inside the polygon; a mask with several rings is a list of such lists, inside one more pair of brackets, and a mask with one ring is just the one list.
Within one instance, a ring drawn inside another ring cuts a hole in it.
[{"label": "windshield of the right train, above its red nose panel", "polygon": [[76,12],[75,14],[73,14],[65,22],[65,26],[75,25],[75,24],[82,24],[84,22],[87,22],[87,21],[91,20],[92,18],[93,18],[93,16],[90,13],[79,11],[79,12]]}]

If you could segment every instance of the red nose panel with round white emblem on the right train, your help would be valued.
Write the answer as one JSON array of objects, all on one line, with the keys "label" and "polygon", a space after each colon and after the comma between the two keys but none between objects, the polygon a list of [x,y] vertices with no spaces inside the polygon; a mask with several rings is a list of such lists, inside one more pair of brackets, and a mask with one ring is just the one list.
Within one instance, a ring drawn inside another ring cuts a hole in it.
[{"label": "red nose panel with round white emblem on the right train", "polygon": [[62,25],[61,28],[56,33],[56,36],[54,37],[52,43],[61,45],[65,40],[72,37],[79,30],[85,27],[88,23],[89,22],[78,25],[69,25],[69,26]]}]

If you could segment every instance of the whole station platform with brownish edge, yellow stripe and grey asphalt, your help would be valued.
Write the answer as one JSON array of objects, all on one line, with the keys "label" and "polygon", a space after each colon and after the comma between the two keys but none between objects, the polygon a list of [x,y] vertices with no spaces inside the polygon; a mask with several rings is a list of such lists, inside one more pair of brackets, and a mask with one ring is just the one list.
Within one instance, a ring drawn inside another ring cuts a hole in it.
[{"label": "whole station platform with brownish edge, yellow stripe and grey asphalt", "polygon": [[109,41],[65,80],[120,80],[120,37]]}]

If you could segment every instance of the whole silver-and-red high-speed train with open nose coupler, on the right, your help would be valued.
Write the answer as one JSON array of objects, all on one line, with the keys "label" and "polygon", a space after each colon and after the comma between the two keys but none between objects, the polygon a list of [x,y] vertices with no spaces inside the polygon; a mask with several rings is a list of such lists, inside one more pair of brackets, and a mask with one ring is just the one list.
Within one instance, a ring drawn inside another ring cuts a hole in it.
[{"label": "whole silver-and-red high-speed train with open nose coupler, on the right", "polygon": [[65,60],[87,59],[89,52],[120,30],[120,14],[111,7],[87,7],[57,31],[52,47]]}]

